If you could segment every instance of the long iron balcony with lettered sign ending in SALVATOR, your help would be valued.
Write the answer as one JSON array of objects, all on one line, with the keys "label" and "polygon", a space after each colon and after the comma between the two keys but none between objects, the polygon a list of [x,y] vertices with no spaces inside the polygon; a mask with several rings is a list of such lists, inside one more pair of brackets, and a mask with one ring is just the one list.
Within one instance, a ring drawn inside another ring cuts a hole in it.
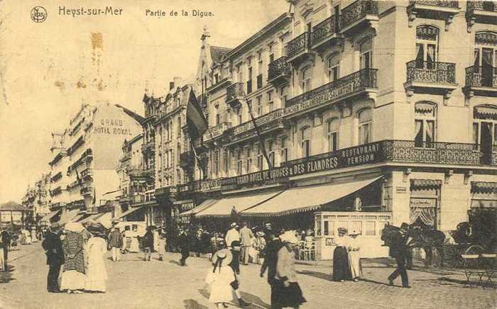
[{"label": "long iron balcony with lettered sign ending in SALVATOR", "polygon": [[285,103],[285,117],[293,117],[353,96],[376,94],[377,69],[361,69],[346,77],[295,96]]}]

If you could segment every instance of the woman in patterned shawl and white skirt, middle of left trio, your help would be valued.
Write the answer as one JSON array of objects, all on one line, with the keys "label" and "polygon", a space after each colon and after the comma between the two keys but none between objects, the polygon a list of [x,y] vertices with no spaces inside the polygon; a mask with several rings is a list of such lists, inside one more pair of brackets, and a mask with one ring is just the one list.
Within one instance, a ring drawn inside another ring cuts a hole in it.
[{"label": "woman in patterned shawl and white skirt, middle of left trio", "polygon": [[70,222],[64,227],[65,235],[62,240],[62,250],[64,252],[64,269],[60,290],[67,290],[67,293],[82,293],[84,289],[84,242],[81,235],[84,227],[81,223]]}]

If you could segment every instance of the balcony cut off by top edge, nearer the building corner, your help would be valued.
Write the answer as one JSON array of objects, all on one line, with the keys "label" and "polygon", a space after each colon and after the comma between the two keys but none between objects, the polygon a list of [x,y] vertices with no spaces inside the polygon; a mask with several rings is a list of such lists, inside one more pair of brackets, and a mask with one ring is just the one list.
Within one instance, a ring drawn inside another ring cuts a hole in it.
[{"label": "balcony cut off by top edge, nearer the building corner", "polygon": [[459,1],[410,0],[408,6],[409,27],[412,27],[415,19],[420,17],[443,19],[445,21],[445,30],[449,30],[449,25],[460,10]]}]

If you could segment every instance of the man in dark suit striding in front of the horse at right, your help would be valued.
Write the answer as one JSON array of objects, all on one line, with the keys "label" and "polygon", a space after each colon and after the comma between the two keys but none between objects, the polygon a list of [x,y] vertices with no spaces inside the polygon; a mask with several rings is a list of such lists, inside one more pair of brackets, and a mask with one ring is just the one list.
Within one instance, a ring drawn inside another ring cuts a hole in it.
[{"label": "man in dark suit striding in front of the horse at right", "polygon": [[391,286],[393,286],[393,281],[400,275],[400,279],[402,279],[402,287],[410,288],[408,271],[405,268],[405,264],[408,259],[408,243],[410,241],[408,237],[408,228],[409,225],[407,223],[402,223],[402,225],[400,225],[400,235],[398,239],[393,245],[390,246],[390,256],[394,257],[397,262],[397,268],[390,276],[388,276],[388,283],[390,283]]}]

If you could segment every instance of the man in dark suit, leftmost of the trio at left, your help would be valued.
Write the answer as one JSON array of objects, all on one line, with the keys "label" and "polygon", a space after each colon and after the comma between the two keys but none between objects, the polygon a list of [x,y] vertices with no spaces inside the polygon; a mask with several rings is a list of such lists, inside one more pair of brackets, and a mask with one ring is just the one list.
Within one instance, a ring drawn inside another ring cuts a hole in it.
[{"label": "man in dark suit, leftmost of the trio at left", "polygon": [[41,243],[47,256],[48,276],[47,290],[50,293],[58,293],[58,278],[60,266],[64,264],[64,252],[62,252],[62,241],[60,240],[60,226],[58,223],[52,223],[45,234],[45,240]]}]

